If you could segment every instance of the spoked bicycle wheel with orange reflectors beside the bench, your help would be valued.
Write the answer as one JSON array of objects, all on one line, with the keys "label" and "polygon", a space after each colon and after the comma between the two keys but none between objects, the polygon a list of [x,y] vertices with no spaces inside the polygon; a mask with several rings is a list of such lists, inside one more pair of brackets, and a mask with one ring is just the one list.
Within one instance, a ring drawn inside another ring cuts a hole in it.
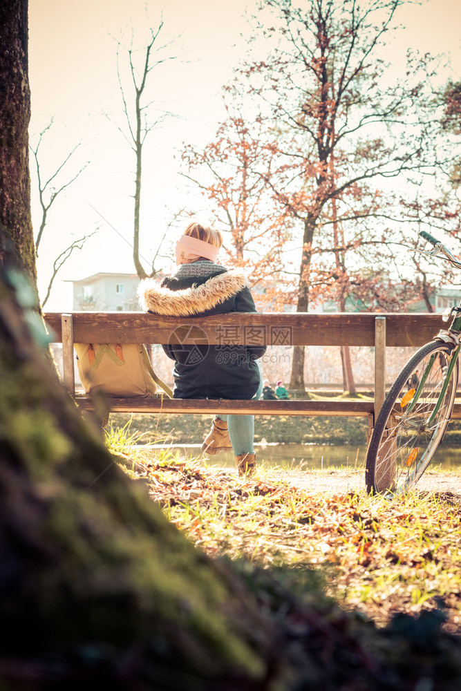
[{"label": "spoked bicycle wheel with orange reflectors beside the bench", "polygon": [[458,371],[458,348],[442,341],[426,343],[408,360],[375,422],[366,457],[368,492],[395,495],[420,479],[449,424]]}]

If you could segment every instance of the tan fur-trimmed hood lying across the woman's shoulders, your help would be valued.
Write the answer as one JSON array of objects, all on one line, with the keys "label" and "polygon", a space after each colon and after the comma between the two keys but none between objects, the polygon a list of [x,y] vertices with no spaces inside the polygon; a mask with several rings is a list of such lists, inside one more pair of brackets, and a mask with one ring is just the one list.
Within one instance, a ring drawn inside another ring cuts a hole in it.
[{"label": "tan fur-trimmed hood lying across the woman's shoulders", "polygon": [[192,316],[201,314],[236,296],[247,285],[242,269],[229,269],[211,276],[201,285],[183,290],[162,287],[153,278],[145,278],[138,287],[138,298],[143,310],[164,316]]}]

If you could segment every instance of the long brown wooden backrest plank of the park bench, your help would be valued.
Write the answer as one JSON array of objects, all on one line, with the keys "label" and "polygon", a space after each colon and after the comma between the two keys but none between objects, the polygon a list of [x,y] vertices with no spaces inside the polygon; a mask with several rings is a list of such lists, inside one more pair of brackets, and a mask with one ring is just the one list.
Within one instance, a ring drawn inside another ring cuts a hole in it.
[{"label": "long brown wooden backrest plank of the park bench", "polygon": [[[440,314],[305,314],[265,312],[207,317],[167,317],[144,312],[72,312],[76,343],[168,343],[182,328],[184,343],[196,342],[185,326],[203,330],[211,345],[375,345],[377,319],[386,320],[386,345],[420,346],[443,326]],[[46,322],[62,343],[62,313],[48,312]],[[66,315],[64,315],[66,316]]]}]

